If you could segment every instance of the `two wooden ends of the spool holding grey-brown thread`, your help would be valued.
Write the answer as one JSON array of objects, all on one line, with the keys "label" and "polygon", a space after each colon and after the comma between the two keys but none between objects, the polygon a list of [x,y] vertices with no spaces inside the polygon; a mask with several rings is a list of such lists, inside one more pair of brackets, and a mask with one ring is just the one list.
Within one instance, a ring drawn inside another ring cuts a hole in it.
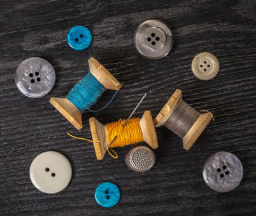
[{"label": "two wooden ends of the spool holding grey-brown thread", "polygon": [[[182,91],[177,89],[174,94],[170,97],[169,101],[167,101],[166,105],[159,112],[157,117],[154,119],[155,127],[162,126],[166,123],[170,115],[174,112],[174,110],[179,106],[182,101]],[[187,134],[182,138],[183,139],[183,148],[188,150],[193,146],[196,139],[201,135],[203,130],[207,127],[208,123],[210,123],[213,118],[213,114],[211,112],[206,112],[205,114],[200,114],[197,118],[196,122],[193,126],[188,130]]]}]

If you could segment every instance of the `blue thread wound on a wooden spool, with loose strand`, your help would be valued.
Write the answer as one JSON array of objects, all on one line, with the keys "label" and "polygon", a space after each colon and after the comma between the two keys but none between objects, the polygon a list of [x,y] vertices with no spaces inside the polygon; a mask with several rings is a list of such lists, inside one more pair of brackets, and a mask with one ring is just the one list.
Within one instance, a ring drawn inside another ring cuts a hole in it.
[{"label": "blue thread wound on a wooden spool, with loose strand", "polygon": [[91,110],[90,107],[97,102],[97,100],[102,96],[102,94],[107,89],[102,85],[99,80],[97,80],[90,71],[87,75],[82,78],[69,92],[66,99],[68,99],[74,106],[82,113],[85,110],[90,110],[91,112],[99,112],[105,109],[115,98],[118,91],[113,95],[112,99],[99,110]]}]

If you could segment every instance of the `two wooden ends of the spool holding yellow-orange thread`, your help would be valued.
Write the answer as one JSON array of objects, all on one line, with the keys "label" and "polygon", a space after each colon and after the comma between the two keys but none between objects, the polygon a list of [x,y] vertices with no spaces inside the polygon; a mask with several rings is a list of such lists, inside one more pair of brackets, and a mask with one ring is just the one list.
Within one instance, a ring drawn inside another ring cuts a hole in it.
[{"label": "two wooden ends of the spool holding yellow-orange thread", "polygon": [[[107,151],[106,146],[110,144],[108,143],[107,128],[94,117],[89,118],[89,123],[96,157],[98,160],[102,160]],[[144,112],[143,117],[139,120],[139,125],[141,126],[144,142],[149,144],[153,149],[156,149],[158,142],[150,111]]]}]

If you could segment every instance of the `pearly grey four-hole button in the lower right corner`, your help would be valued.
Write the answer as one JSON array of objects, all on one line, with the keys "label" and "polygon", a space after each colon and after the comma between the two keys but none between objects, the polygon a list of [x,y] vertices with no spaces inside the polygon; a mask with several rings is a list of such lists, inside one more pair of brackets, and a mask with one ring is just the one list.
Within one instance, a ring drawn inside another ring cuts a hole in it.
[{"label": "pearly grey four-hole button in the lower right corner", "polygon": [[217,152],[205,161],[203,179],[214,191],[224,193],[235,189],[242,181],[241,161],[229,152]]}]

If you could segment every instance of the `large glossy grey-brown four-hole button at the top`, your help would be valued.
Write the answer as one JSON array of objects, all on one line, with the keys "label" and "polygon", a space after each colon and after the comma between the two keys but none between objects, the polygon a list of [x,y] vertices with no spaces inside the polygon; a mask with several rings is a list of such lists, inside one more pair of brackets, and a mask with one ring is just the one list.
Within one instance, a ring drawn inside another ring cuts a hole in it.
[{"label": "large glossy grey-brown four-hole button at the top", "polygon": [[141,23],[134,35],[135,49],[146,59],[161,59],[169,54],[174,44],[172,31],[159,20]]}]

